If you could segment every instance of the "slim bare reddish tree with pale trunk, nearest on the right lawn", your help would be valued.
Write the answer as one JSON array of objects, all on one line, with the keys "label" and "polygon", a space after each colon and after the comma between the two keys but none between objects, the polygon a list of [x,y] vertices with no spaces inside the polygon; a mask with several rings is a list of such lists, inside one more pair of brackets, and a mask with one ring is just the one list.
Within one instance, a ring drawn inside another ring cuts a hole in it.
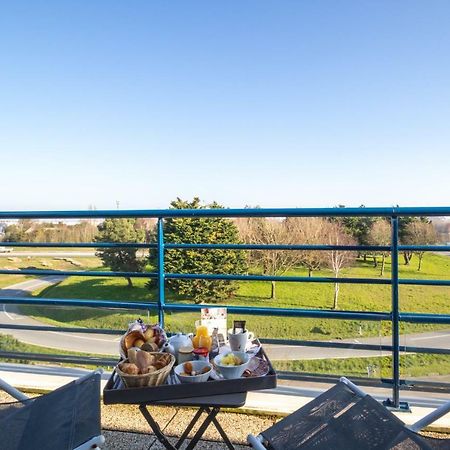
[{"label": "slim bare reddish tree with pale trunk, nearest on the right lawn", "polygon": [[[328,243],[330,245],[354,245],[355,240],[347,234],[339,222],[330,222],[327,229]],[[343,250],[331,250],[328,253],[328,264],[335,278],[343,267],[348,265],[353,257],[350,252]],[[334,284],[333,309],[338,307],[339,283]]]}]

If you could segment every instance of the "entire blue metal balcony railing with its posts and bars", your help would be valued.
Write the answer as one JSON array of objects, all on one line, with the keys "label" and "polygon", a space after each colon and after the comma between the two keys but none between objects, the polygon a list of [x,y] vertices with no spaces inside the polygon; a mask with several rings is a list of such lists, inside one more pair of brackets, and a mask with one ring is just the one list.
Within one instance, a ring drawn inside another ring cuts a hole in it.
[{"label": "entire blue metal balcony railing with its posts and bars", "polygon": [[[248,307],[233,305],[224,306],[231,313],[249,315],[271,315],[280,317],[303,317],[339,320],[360,321],[391,321],[392,345],[386,350],[392,351],[393,373],[390,383],[392,384],[392,405],[399,406],[399,392],[402,384],[400,379],[400,352],[415,351],[418,353],[428,352],[437,354],[450,354],[450,350],[434,348],[411,348],[400,346],[400,323],[434,323],[450,324],[448,314],[422,314],[402,313],[399,308],[399,286],[450,286],[450,280],[427,280],[427,279],[400,279],[398,271],[398,254],[401,251],[450,251],[450,246],[445,245],[399,245],[398,226],[400,217],[418,216],[450,216],[450,207],[430,208],[288,208],[288,209],[168,209],[168,210],[106,210],[106,211],[26,211],[26,212],[0,212],[2,219],[93,219],[93,218],[156,218],[157,242],[156,243],[28,243],[28,242],[2,242],[2,246],[14,247],[61,247],[61,248],[140,248],[153,249],[157,251],[158,265],[156,272],[114,272],[114,271],[58,271],[58,270],[0,270],[0,274],[10,275],[66,275],[66,276],[92,276],[92,277],[144,277],[157,280],[158,297],[153,302],[123,302],[115,300],[81,300],[81,299],[52,299],[52,298],[17,298],[0,296],[0,304],[40,304],[55,306],[77,306],[91,308],[113,308],[132,310],[156,310],[161,324],[164,324],[164,313],[168,311],[191,312],[199,311],[210,305],[199,304],[177,304],[166,303],[165,287],[168,279],[203,279],[203,280],[238,280],[238,281],[283,281],[302,283],[352,283],[373,284],[391,286],[391,311],[343,311],[343,310],[316,310],[301,308],[273,308],[273,307]],[[164,220],[168,218],[197,218],[197,217],[386,217],[391,220],[391,245],[282,245],[282,244],[202,244],[202,243],[165,243],[164,242]],[[346,251],[389,251],[391,253],[391,278],[334,278],[334,277],[300,277],[300,276],[267,276],[267,275],[230,275],[230,274],[186,274],[167,273],[164,270],[164,255],[166,249],[221,249],[221,250],[346,250]],[[25,325],[0,325],[0,328],[28,329],[28,330],[60,330],[66,332],[89,332],[89,333],[122,333],[123,330],[84,329],[77,327],[48,327],[48,326],[25,326]],[[266,342],[278,342],[286,345],[311,345],[334,348],[349,348],[346,343],[327,343],[309,341],[285,341],[276,339],[265,339]],[[354,349],[379,349],[380,346],[367,344],[351,344]],[[1,356],[0,352],[0,356]],[[14,352],[8,352],[8,357],[13,357]],[[43,356],[39,356],[42,360]],[[23,354],[20,354],[23,359]],[[45,357],[44,357],[45,358]],[[50,358],[50,357],[49,357]],[[30,358],[32,359],[32,355]],[[63,357],[62,360],[67,360]]]}]

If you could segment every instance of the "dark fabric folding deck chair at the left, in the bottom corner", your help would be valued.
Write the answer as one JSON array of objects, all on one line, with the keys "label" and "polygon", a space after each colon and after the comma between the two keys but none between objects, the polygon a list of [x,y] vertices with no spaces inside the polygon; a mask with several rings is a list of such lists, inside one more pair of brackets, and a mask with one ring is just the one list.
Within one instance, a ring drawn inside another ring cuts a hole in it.
[{"label": "dark fabric folding deck chair at the left, in the bottom corner", "polygon": [[0,448],[99,449],[105,442],[100,427],[101,373],[96,370],[35,398],[0,379],[0,389],[17,400],[0,403]]}]

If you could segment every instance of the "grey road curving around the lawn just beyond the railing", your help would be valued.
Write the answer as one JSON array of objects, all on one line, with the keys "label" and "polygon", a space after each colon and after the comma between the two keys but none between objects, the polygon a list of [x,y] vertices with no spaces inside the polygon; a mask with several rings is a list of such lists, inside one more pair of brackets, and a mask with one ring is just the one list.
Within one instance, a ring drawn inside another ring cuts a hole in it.
[{"label": "grey road curving around the lawn just beyond the railing", "polygon": [[[60,282],[64,277],[49,276],[39,279],[33,279],[17,283],[15,285],[0,289],[0,296],[24,297],[36,289],[50,286]],[[15,305],[1,305],[0,309],[1,324],[20,324],[20,325],[42,325],[41,322],[20,314]],[[101,355],[117,355],[119,336],[108,334],[89,334],[89,333],[63,333],[59,331],[42,332],[28,330],[2,330],[16,339],[43,347],[75,351],[89,352]],[[330,340],[330,342],[346,342],[350,344],[373,344],[390,345],[390,337],[369,337],[360,339]],[[436,331],[428,333],[416,333],[401,336],[401,345],[414,347],[435,347],[450,349],[450,330]],[[266,344],[265,349],[272,360],[296,360],[296,359],[327,359],[327,358],[355,358],[367,356],[389,355],[389,352],[304,347],[304,346],[282,346]]]}]

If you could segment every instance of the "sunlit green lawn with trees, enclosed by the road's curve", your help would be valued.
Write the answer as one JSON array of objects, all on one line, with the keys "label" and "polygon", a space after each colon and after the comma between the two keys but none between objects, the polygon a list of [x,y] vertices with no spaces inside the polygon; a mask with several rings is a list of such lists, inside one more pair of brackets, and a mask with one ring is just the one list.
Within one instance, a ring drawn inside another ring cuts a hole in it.
[{"label": "sunlit green lawn with trees, enclosed by the road's curve", "polygon": [[[92,259],[92,258],[91,258]],[[92,261],[91,261],[92,262]],[[385,277],[389,277],[390,261],[386,266]],[[450,274],[450,258],[435,254],[424,257],[423,269],[417,272],[417,261],[413,259],[411,266],[400,266],[402,278],[442,278],[448,279]],[[304,269],[296,269],[287,275],[307,276]],[[318,276],[330,276],[330,271],[315,273]],[[359,260],[354,267],[343,271],[346,277],[379,277],[379,270],[373,268],[372,261]],[[134,279],[134,287],[128,288],[121,278],[89,278],[71,277],[57,286],[51,286],[35,293],[48,298],[81,298],[108,299],[124,301],[156,301],[155,290],[145,287],[145,279]],[[318,283],[277,283],[277,299],[270,299],[270,283],[240,282],[237,295],[230,299],[229,305],[267,306],[285,308],[330,309],[332,305],[333,285]],[[449,313],[450,301],[447,287],[436,286],[401,286],[400,302],[403,311]],[[191,302],[167,292],[167,302]],[[339,309],[361,311],[389,311],[391,294],[389,286],[341,284]],[[146,316],[146,311],[130,313],[90,308],[56,308],[42,306],[26,306],[23,311],[34,317],[53,324],[66,326],[85,326],[95,328],[125,329],[127,323],[136,316]],[[197,313],[167,313],[166,328],[168,331],[193,331],[193,323],[198,319]],[[230,315],[231,320],[237,318]],[[242,318],[242,317],[239,317]],[[360,322],[324,319],[280,318],[270,316],[244,316],[248,328],[260,337],[286,337],[291,339],[339,339],[359,335],[389,335],[388,322]],[[156,321],[156,315],[150,316]],[[427,324],[401,324],[402,332],[418,332],[447,328]]]}]

